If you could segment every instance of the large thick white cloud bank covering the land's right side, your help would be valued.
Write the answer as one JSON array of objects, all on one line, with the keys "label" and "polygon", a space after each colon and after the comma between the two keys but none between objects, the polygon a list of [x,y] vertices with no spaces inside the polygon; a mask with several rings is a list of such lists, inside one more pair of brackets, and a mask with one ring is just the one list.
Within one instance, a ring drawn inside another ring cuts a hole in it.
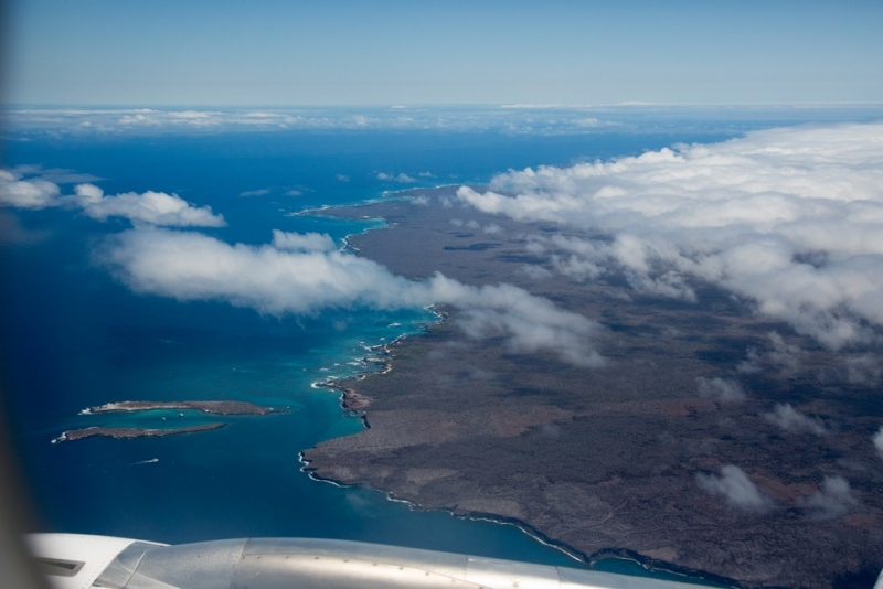
[{"label": "large thick white cloud bank covering the land's right side", "polygon": [[881,162],[883,124],[784,128],[510,171],[457,194],[487,213],[610,234],[574,263],[623,271],[635,289],[691,300],[690,279],[708,280],[839,349],[883,326]]}]

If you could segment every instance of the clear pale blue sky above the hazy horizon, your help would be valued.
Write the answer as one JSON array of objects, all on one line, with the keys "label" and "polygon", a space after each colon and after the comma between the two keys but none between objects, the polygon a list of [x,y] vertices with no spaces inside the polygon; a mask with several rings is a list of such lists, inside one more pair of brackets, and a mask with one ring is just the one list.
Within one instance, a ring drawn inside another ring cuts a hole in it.
[{"label": "clear pale blue sky above the hazy horizon", "polygon": [[883,2],[13,0],[4,101],[883,101]]}]

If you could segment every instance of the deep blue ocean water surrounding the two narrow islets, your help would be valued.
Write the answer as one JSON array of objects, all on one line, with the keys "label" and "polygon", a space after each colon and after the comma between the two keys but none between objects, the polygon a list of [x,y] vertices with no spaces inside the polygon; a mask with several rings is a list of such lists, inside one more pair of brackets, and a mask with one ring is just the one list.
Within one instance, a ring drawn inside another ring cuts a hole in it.
[{"label": "deep blue ocean water surrounding the two narrow islets", "polygon": [[[93,174],[107,194],[174,192],[224,215],[228,226],[208,233],[230,243],[263,244],[274,228],[329,233],[340,240],[377,226],[296,214],[321,205],[360,203],[414,185],[481,183],[509,168],[638,154],[730,136],[42,136],[8,142],[4,164]],[[380,172],[419,182],[384,181]],[[241,195],[255,191],[264,192]],[[28,245],[3,248],[1,312],[11,429],[44,529],[167,543],[318,536],[578,565],[513,526],[414,511],[380,492],[319,483],[300,471],[300,450],[362,427],[333,392],[313,383],[372,370],[358,362],[365,347],[418,334],[433,319],[427,311],[279,319],[222,302],[135,294],[92,261],[102,239],[128,222],[99,223],[60,208],[3,214],[14,215],[34,236]],[[78,415],[126,399],[240,399],[290,410],[234,418],[194,411]],[[88,426],[217,420],[230,426],[161,439],[51,443],[63,430]],[[627,563],[603,568],[640,571]]]}]

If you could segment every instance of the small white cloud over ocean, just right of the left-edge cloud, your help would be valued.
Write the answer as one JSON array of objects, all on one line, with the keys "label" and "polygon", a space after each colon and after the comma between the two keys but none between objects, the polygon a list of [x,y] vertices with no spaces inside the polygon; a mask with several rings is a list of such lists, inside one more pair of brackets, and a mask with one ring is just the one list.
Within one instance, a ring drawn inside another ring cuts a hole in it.
[{"label": "small white cloud over ocean, just right of the left-edge cloud", "polygon": [[126,192],[105,196],[94,184],[77,184],[74,201],[92,218],[106,221],[124,217],[132,222],[169,227],[223,227],[224,217],[212,213],[210,206],[193,207],[177,194],[148,191]]}]

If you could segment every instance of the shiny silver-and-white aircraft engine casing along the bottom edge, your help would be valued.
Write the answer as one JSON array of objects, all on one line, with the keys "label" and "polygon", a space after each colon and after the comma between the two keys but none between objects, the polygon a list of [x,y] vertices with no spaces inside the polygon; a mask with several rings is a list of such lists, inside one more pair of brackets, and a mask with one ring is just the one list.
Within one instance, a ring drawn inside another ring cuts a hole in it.
[{"label": "shiny silver-and-white aircraft engine casing along the bottom edge", "polygon": [[169,546],[79,534],[25,543],[56,589],[696,589],[699,586],[468,555],[315,538]]}]

